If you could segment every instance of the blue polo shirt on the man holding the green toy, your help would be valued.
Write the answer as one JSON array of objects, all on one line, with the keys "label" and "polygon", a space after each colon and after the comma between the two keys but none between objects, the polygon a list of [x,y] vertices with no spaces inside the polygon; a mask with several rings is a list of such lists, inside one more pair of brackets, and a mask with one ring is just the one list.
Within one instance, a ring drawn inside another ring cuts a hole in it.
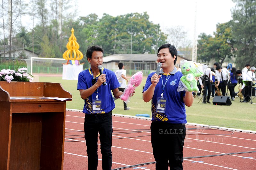
[{"label": "blue polo shirt on the man holding the green toy", "polygon": [[[148,75],[143,92],[146,91],[152,84],[150,80],[154,73],[156,72],[150,73]],[[162,70],[160,70],[160,74],[163,79],[160,77],[159,82],[156,84],[154,95],[151,100],[152,121],[164,121],[167,123],[175,124],[187,123],[186,109],[183,101],[185,91],[177,91],[182,73],[179,71],[177,72],[176,67],[174,67],[174,70],[171,73],[165,74]],[[162,80],[163,84],[165,84],[167,81],[164,87],[164,97],[167,98],[165,113],[156,112],[157,97],[161,97],[163,90]]]}]

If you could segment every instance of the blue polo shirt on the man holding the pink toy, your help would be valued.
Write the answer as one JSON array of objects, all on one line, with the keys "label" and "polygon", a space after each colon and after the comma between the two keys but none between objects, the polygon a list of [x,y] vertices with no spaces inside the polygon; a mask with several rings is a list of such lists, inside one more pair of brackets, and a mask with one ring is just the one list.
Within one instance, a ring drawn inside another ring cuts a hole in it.
[{"label": "blue polo shirt on the man holding the pink toy", "polygon": [[[103,73],[106,74],[106,81],[107,85],[103,86],[101,85],[98,89],[98,99],[101,100],[101,113],[108,113],[112,111],[115,108],[115,103],[113,100],[113,96],[111,93],[111,90],[116,89],[120,86],[116,75],[114,72],[108,70],[108,69],[103,69]],[[98,77],[100,74],[96,76],[96,81],[98,80]],[[84,70],[79,73],[78,75],[78,82],[77,82],[77,90],[79,89],[89,89],[92,87],[92,79],[93,75],[91,72],[91,68]],[[97,90],[95,90],[94,93],[92,93],[91,96],[87,97],[84,100],[84,109],[83,112],[85,114],[93,114],[92,113],[92,99],[96,99],[97,95]]]}]

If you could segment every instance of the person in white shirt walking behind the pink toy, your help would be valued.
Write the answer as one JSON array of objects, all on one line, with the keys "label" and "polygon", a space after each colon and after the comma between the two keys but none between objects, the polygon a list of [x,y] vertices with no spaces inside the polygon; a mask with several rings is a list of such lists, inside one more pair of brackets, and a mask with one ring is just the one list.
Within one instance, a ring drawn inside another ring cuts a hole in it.
[{"label": "person in white shirt walking behind the pink toy", "polygon": [[[119,67],[119,70],[116,70],[115,72],[117,80],[120,83],[120,87],[118,87],[118,89],[119,91],[124,91],[124,89],[126,88],[126,81],[128,82],[129,80],[126,78],[126,70],[124,70],[124,64],[119,63],[118,67]],[[114,97],[114,100],[116,100],[115,97]],[[129,110],[129,109],[130,108],[127,107],[127,104],[124,102],[124,110]]]}]

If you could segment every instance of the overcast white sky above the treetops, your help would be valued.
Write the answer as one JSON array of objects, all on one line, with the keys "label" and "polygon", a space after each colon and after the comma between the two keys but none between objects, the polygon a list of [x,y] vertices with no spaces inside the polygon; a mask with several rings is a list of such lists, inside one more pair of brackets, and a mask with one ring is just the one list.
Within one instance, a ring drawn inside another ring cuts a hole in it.
[{"label": "overcast white sky above the treetops", "polygon": [[232,19],[231,8],[235,6],[232,0],[77,0],[77,7],[79,16],[96,13],[99,18],[103,13],[116,17],[147,12],[149,21],[159,24],[162,30],[171,26],[184,26],[188,39],[193,42],[196,1],[196,35],[203,32],[213,35],[217,23]]}]

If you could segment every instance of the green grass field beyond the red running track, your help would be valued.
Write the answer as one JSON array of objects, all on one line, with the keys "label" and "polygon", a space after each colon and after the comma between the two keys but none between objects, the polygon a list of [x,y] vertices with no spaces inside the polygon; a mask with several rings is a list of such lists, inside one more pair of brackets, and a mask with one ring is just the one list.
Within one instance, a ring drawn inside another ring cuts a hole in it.
[{"label": "green grass field beyond the red running track", "polygon": [[[84,107],[84,100],[80,97],[77,88],[76,80],[62,80],[62,77],[40,76],[40,82],[58,82],[62,87],[70,92],[73,97],[72,102],[67,102],[67,108],[82,110]],[[116,108],[113,113],[136,115],[149,114],[151,115],[151,102],[145,103],[142,99],[142,86],[145,85],[146,78],[143,78],[141,85],[135,90],[135,95],[127,104],[130,110],[124,111],[123,101],[115,100]],[[237,90],[237,86],[236,89]],[[186,107],[187,121],[190,123],[199,123],[206,125],[215,125],[228,128],[246,129],[256,131],[256,105],[249,103],[240,103],[239,98],[236,98],[232,105],[221,106],[213,104],[203,104],[200,100],[202,96],[195,97],[194,103],[191,107]],[[212,98],[210,102],[212,102]],[[256,103],[256,98],[253,99]]]}]

